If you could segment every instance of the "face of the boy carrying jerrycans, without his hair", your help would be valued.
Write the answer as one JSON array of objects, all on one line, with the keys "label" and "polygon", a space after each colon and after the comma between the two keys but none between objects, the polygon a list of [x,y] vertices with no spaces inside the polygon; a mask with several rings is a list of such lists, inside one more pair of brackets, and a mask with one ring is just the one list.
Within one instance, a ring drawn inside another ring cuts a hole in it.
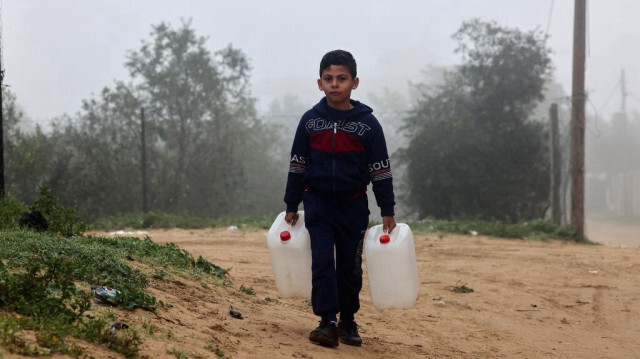
[{"label": "face of the boy carrying jerrycans, without his hair", "polygon": [[351,77],[349,69],[342,65],[331,65],[322,70],[318,88],[327,96],[329,107],[336,110],[351,109],[351,91],[358,88],[360,80]]}]

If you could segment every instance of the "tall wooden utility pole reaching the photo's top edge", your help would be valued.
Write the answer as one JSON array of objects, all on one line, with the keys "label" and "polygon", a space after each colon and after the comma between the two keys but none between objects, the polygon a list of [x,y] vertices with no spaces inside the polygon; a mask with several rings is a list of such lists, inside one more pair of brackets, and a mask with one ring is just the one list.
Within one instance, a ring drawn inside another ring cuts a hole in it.
[{"label": "tall wooden utility pole reaching the photo's top edge", "polygon": [[571,228],[584,240],[584,90],[586,0],[575,0],[571,89]]}]

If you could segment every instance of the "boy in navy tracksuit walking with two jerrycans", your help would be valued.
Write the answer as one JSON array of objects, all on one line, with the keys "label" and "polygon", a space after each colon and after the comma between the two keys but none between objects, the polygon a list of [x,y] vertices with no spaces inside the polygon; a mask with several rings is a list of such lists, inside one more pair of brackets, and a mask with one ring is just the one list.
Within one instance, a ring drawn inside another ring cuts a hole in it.
[{"label": "boy in navy tracksuit walking with two jerrycans", "polygon": [[324,55],[318,87],[325,97],[298,124],[284,196],[285,220],[291,225],[298,220],[298,205],[304,203],[311,237],[311,303],[320,325],[309,340],[329,347],[337,346],[338,338],[344,344],[362,344],[354,314],[360,308],[370,182],[383,228],[391,232],[396,226],[382,127],[371,108],[351,100],[359,82],[356,61],[349,52]]}]

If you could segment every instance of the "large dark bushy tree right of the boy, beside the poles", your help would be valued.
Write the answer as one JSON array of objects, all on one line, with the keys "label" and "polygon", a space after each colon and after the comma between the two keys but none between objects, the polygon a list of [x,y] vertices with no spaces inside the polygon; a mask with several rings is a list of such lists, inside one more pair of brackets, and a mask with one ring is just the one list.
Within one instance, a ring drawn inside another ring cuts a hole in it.
[{"label": "large dark bushy tree right of the boy, beside the poles", "polygon": [[541,217],[548,148],[530,115],[551,71],[545,37],[476,19],[453,38],[462,65],[406,119],[406,200],[421,217]]}]

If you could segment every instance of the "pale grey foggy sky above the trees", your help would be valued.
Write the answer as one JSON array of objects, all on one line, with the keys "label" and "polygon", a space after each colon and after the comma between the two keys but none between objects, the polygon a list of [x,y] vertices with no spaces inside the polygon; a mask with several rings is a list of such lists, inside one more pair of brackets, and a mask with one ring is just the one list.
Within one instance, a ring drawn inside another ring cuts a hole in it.
[{"label": "pale grey foggy sky above the trees", "polygon": [[[151,39],[151,25],[173,28],[191,19],[215,52],[229,43],[253,66],[259,109],[285,94],[311,106],[320,57],[351,51],[359,66],[356,99],[384,87],[406,94],[428,65],[459,61],[451,35],[478,17],[550,35],[555,78],[571,91],[573,1],[207,1],[207,0],[4,0],[0,7],[5,84],[32,121],[46,124],[74,114],[115,80],[127,81],[126,54]],[[627,109],[640,108],[640,2],[588,2],[587,111],[608,118],[620,109],[618,81],[626,72]]]}]

